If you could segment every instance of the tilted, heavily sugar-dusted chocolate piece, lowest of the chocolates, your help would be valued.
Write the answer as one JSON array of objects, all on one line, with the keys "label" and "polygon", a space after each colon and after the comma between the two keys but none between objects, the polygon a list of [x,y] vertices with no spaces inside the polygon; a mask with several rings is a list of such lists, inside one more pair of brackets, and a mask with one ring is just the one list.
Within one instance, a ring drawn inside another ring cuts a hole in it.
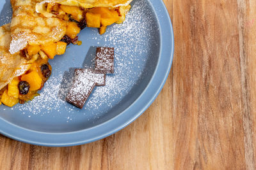
[{"label": "tilted, heavily sugar-dusted chocolate piece, lowest of the chocolates", "polygon": [[75,74],[75,80],[70,92],[68,92],[66,101],[81,109],[97,83],[90,80],[90,78],[86,78],[84,76],[86,74],[77,74],[76,72]]}]

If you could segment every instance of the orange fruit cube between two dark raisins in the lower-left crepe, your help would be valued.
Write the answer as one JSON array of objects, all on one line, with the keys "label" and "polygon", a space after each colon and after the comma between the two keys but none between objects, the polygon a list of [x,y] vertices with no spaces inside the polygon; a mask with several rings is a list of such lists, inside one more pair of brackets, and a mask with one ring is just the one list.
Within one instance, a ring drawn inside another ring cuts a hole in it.
[{"label": "orange fruit cube between two dark raisins in the lower-left crepe", "polygon": [[24,74],[20,78],[22,81],[27,81],[30,85],[31,91],[38,90],[41,88],[42,78],[39,76],[37,71],[31,71],[28,74]]}]

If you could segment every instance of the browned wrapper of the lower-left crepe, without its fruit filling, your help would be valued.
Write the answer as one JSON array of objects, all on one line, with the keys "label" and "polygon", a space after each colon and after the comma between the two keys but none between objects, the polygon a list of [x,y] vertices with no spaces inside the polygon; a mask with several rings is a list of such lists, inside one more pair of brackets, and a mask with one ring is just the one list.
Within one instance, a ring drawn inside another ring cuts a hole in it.
[{"label": "browned wrapper of the lower-left crepe, without its fruit filling", "polygon": [[0,27],[0,90],[16,76],[28,71],[31,63],[36,60],[26,60],[19,53],[12,55],[9,52],[11,40],[10,24]]}]

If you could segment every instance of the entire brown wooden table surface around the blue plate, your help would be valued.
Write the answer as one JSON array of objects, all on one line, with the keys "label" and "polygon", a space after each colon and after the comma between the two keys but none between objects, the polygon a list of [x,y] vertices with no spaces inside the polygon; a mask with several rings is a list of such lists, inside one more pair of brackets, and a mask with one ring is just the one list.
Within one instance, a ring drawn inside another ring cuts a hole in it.
[{"label": "entire brown wooden table surface around the blue plate", "polygon": [[255,169],[256,1],[164,3],[175,54],[150,108],[87,145],[49,148],[0,136],[0,169]]}]

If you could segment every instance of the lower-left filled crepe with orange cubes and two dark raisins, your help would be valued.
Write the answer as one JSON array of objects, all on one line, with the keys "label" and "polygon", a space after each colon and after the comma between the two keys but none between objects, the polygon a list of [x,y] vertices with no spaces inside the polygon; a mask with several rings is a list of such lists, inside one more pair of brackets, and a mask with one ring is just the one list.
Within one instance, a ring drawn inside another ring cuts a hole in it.
[{"label": "lower-left filled crepe with orange cubes and two dark raisins", "polygon": [[51,75],[48,58],[38,53],[26,59],[26,54],[9,52],[11,40],[10,24],[0,27],[0,97],[1,103],[14,106],[38,96]]}]

